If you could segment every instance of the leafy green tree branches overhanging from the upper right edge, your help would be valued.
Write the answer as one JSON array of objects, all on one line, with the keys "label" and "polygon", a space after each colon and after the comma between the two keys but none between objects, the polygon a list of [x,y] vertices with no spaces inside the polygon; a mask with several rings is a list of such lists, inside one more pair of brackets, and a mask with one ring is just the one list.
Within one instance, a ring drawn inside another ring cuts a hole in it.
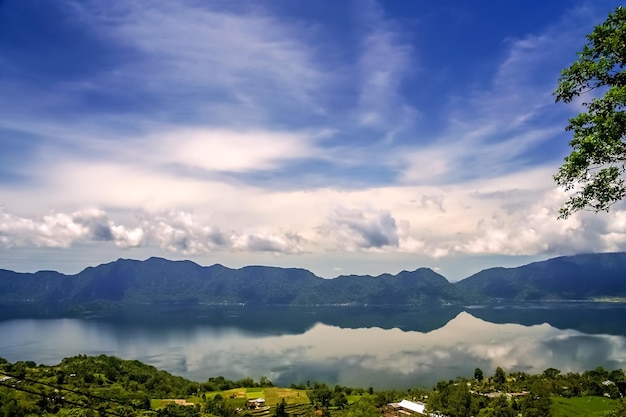
[{"label": "leafy green tree branches overhanging from the upper right edge", "polygon": [[578,59],[562,71],[556,101],[571,102],[597,90],[586,112],[569,120],[572,152],[554,176],[573,194],[559,217],[583,210],[608,211],[626,197],[626,9],[618,7],[587,35]]}]

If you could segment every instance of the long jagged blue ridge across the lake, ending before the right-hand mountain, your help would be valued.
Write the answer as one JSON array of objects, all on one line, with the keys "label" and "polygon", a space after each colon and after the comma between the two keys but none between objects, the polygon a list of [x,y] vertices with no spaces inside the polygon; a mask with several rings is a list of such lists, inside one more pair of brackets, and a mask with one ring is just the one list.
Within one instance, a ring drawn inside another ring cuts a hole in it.
[{"label": "long jagged blue ridge across the lake, ending before the right-hand mountain", "polygon": [[0,301],[84,304],[423,305],[461,300],[430,269],[327,280],[296,268],[203,267],[190,261],[119,259],[76,275],[0,270]]}]

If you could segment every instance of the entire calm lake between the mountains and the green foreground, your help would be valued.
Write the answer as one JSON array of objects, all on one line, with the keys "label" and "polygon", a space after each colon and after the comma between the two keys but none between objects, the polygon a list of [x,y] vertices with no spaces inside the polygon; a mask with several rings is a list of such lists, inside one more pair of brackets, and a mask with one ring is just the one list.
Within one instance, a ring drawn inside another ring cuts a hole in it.
[{"label": "entire calm lake between the mountains and the green foreground", "polygon": [[[196,381],[265,375],[407,388],[508,371],[626,368],[626,306],[441,310],[161,307],[107,317],[20,318],[0,311],[0,356],[57,364],[107,354]],[[32,316],[32,315],[31,315]]]}]

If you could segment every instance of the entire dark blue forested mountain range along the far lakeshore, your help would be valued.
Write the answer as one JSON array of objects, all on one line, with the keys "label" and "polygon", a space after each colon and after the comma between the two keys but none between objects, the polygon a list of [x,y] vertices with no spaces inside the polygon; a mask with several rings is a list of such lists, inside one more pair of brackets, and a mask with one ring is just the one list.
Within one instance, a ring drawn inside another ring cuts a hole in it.
[{"label": "entire dark blue forested mountain range along the far lakeshore", "polygon": [[608,297],[626,297],[626,253],[492,268],[457,283],[428,268],[323,279],[297,268],[230,269],[161,258],[119,259],[76,275],[0,270],[0,302],[441,305]]}]

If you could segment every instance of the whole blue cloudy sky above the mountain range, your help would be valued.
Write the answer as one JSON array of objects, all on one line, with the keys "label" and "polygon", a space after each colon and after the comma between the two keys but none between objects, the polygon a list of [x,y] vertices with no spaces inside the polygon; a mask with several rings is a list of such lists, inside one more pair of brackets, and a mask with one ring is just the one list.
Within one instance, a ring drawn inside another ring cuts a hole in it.
[{"label": "whole blue cloudy sky above the mountain range", "polygon": [[624,251],[626,205],[558,220],[553,180],[590,98],[560,71],[619,4],[0,0],[0,268]]}]

